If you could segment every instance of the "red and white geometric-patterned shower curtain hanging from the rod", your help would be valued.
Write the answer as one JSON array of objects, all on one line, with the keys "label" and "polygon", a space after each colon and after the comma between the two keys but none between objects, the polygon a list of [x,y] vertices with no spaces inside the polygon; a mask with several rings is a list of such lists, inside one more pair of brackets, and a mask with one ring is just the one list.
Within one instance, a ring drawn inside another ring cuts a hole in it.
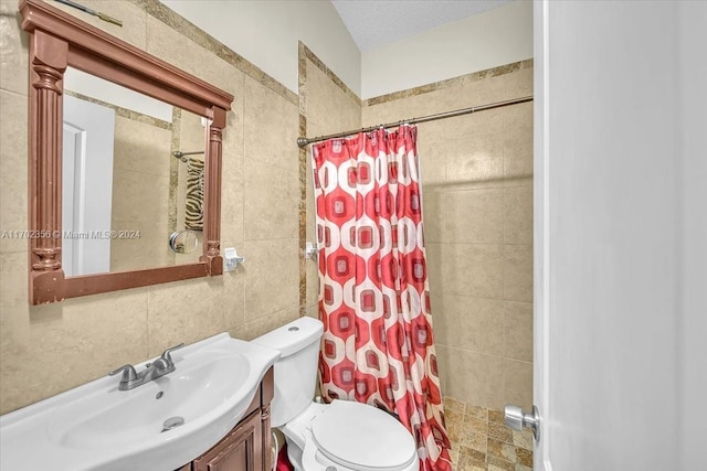
[{"label": "red and white geometric-patterned shower curtain hanging from the rod", "polygon": [[430,313],[414,126],[312,148],[325,399],[411,431],[421,470],[451,470]]}]

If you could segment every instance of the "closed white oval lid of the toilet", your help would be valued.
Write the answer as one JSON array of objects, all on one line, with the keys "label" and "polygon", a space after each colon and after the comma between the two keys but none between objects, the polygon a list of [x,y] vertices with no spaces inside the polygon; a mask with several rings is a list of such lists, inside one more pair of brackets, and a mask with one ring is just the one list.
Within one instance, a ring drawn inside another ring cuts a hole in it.
[{"label": "closed white oval lid of the toilet", "polygon": [[365,404],[334,400],[312,424],[312,435],[319,451],[348,468],[395,469],[418,459],[405,427]]}]

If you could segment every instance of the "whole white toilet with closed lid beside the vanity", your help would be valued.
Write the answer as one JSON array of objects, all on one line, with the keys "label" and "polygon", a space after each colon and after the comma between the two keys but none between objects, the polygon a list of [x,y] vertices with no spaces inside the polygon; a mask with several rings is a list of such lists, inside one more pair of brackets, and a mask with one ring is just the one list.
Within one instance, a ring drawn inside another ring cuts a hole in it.
[{"label": "whole white toilet with closed lid beside the vanity", "polygon": [[415,442],[390,414],[366,404],[313,402],[324,327],[299,318],[255,340],[278,350],[271,425],[296,471],[418,471]]}]

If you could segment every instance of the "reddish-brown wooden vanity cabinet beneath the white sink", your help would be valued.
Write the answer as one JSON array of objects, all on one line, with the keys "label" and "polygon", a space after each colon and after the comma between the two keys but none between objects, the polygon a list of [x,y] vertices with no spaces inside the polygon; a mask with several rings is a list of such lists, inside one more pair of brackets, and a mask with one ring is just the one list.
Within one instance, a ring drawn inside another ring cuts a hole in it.
[{"label": "reddish-brown wooden vanity cabinet beneath the white sink", "polygon": [[270,471],[270,403],[273,393],[271,367],[245,417],[211,449],[177,471]]}]

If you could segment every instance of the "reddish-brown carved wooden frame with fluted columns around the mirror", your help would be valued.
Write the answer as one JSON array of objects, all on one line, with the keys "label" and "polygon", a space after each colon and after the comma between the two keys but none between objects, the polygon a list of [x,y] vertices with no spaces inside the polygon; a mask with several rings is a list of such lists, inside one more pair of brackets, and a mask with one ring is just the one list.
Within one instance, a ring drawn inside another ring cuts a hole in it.
[{"label": "reddish-brown carved wooden frame with fluted columns around the mirror", "polygon": [[[221,275],[221,137],[233,96],[41,0],[22,0],[20,12],[22,29],[30,36],[30,302],[40,304]],[[62,127],[63,76],[68,65],[210,120],[204,168],[204,247],[198,263],[76,277],[64,275]]]}]

